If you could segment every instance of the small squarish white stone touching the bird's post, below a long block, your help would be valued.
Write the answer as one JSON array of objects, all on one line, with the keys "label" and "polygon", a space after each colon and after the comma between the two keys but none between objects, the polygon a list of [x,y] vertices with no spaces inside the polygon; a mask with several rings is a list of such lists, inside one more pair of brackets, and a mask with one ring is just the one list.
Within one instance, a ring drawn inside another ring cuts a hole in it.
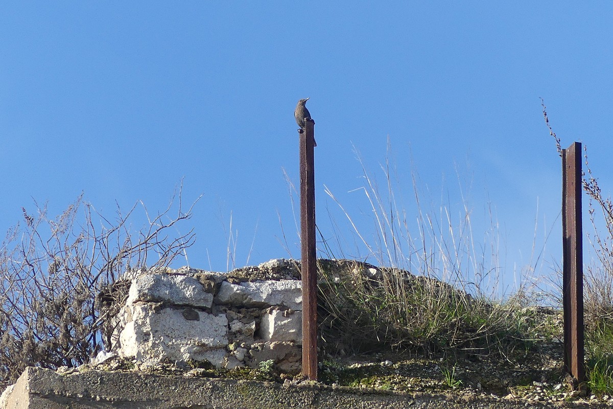
[{"label": "small squarish white stone touching the bird's post, below a long block", "polygon": [[270,310],[262,316],[260,336],[265,341],[286,341],[302,345],[302,312]]}]

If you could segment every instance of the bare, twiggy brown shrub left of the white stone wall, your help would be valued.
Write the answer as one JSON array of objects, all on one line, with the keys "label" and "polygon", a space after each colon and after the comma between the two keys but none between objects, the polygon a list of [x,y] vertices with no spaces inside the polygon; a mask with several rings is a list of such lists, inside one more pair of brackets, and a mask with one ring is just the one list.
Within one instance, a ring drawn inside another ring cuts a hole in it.
[{"label": "bare, twiggy brown shrub left of the white stone wall", "polygon": [[170,229],[188,220],[181,189],[166,210],[132,231],[135,204],[105,218],[83,195],[51,218],[47,207],[23,208],[0,248],[0,380],[15,380],[29,365],[56,369],[88,362],[111,348],[112,318],[125,295],[122,280],[167,267],[194,243],[192,231]]}]

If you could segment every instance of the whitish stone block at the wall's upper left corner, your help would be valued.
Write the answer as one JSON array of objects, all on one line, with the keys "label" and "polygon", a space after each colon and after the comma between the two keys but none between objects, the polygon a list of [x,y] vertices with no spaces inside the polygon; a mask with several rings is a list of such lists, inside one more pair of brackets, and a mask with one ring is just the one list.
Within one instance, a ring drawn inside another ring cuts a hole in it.
[{"label": "whitish stone block at the wall's upper left corner", "polygon": [[143,274],[132,280],[126,303],[137,301],[210,308],[213,294],[188,275]]}]

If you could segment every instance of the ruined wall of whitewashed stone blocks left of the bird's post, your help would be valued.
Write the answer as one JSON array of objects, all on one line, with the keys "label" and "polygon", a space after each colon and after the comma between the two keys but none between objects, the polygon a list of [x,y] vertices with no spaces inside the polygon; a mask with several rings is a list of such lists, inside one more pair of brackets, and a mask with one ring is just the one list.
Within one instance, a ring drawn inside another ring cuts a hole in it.
[{"label": "ruined wall of whitewashed stone blocks left of the bird's post", "polygon": [[[288,263],[273,260],[259,268],[280,270]],[[142,273],[118,316],[116,353],[140,362],[208,362],[228,369],[273,359],[281,372],[299,372],[300,281],[242,280],[194,269]]]}]

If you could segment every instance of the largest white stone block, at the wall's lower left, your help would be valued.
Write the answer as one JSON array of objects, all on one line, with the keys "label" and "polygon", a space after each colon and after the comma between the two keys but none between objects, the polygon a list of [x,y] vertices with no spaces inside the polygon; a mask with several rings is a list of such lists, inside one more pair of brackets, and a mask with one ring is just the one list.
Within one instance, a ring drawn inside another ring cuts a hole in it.
[{"label": "largest white stone block, at the wall's lower left", "polygon": [[[131,321],[120,334],[118,354],[139,361],[208,361],[217,367],[226,356],[227,318],[189,308],[132,305]],[[197,317],[196,317],[197,315]],[[196,319],[192,319],[196,318]]]}]

